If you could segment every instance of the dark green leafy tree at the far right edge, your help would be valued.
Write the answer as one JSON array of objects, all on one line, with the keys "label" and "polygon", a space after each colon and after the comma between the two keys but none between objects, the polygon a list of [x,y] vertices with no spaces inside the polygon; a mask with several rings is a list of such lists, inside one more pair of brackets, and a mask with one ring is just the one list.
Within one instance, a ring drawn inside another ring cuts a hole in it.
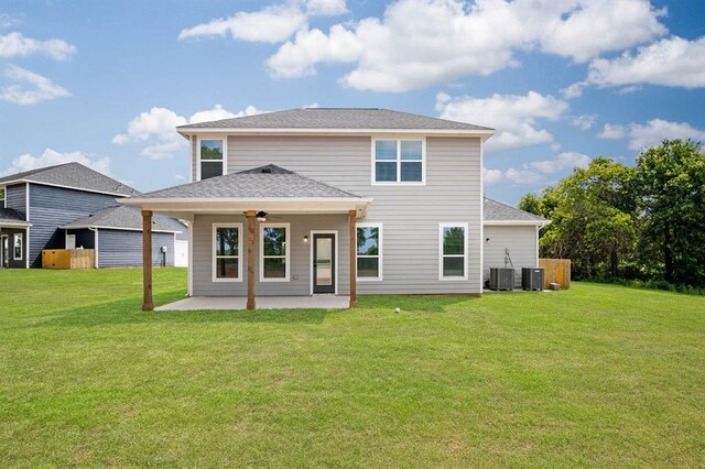
[{"label": "dark green leafy tree at the far right edge", "polygon": [[676,284],[705,285],[705,155],[701,143],[664,140],[637,157],[644,241]]}]

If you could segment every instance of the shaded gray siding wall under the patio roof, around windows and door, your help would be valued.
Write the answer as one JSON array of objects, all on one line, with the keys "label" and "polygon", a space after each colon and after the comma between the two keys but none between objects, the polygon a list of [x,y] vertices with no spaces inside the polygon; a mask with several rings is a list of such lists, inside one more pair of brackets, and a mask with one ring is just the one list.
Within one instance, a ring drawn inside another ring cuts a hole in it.
[{"label": "shaded gray siding wall under the patio roof, around windows and door", "polygon": [[[242,282],[213,282],[213,223],[242,223],[241,271]],[[259,253],[260,226],[254,232],[254,279],[257,296],[308,295],[311,294],[311,230],[337,230],[338,294],[350,293],[349,234],[347,215],[280,215],[271,222],[290,223],[290,274],[289,282],[260,282]],[[193,225],[193,294],[194,296],[246,296],[247,295],[247,219],[242,216],[197,215]],[[308,242],[304,242],[304,236]],[[359,288],[359,286],[358,286]]]}]

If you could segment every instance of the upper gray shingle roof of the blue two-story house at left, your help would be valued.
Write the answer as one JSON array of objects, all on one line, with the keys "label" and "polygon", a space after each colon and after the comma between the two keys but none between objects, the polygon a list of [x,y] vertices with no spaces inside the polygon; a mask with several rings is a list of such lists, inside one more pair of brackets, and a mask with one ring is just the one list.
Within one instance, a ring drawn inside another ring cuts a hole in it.
[{"label": "upper gray shingle roof of the blue two-story house at left", "polygon": [[0,178],[0,185],[26,182],[117,196],[140,194],[132,187],[84,166],[80,163],[65,163],[55,166],[40,167]]}]

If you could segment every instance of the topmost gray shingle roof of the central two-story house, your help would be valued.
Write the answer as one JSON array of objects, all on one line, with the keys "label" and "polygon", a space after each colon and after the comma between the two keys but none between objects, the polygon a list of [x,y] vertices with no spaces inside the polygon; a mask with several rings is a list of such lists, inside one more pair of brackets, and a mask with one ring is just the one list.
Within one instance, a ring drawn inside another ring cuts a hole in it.
[{"label": "topmost gray shingle roof of the central two-story house", "polygon": [[267,112],[256,116],[189,123],[178,131],[195,129],[359,129],[359,130],[444,130],[482,131],[494,129],[445,119],[417,116],[389,109],[307,108]]}]

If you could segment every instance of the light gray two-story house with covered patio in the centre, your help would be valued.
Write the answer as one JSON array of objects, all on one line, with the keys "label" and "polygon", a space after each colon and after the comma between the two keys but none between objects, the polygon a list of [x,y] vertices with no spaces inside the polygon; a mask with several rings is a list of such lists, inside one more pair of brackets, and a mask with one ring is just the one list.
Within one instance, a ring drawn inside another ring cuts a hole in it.
[{"label": "light gray two-story house with covered patio in the centre", "polygon": [[536,265],[520,251],[535,253],[543,220],[484,221],[492,129],[318,108],[177,131],[191,143],[193,182],[121,203],[145,210],[145,222],[152,212],[188,220],[192,296],[247,295],[253,307],[256,295],[478,295],[484,260],[498,262],[484,249],[503,243],[516,266]]}]

